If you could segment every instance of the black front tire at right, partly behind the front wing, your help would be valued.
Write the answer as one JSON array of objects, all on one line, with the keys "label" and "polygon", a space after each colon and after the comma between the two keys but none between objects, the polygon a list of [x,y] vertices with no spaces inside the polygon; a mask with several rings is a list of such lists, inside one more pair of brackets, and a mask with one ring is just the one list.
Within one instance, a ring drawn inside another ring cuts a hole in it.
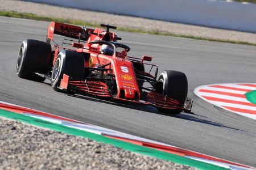
[{"label": "black front tire at right, partly behind the front wing", "polygon": [[[163,82],[162,94],[184,104],[188,94],[187,76],[180,71],[165,70],[159,76],[159,82]],[[158,108],[159,112],[167,114],[179,114],[182,109]]]}]

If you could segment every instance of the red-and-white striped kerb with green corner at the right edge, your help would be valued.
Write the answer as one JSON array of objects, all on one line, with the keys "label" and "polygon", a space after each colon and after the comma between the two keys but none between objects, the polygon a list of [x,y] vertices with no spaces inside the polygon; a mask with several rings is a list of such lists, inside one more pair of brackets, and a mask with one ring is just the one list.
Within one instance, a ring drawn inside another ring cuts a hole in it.
[{"label": "red-and-white striped kerb with green corner at the right edge", "polygon": [[194,92],[211,104],[256,120],[256,83],[209,84]]}]

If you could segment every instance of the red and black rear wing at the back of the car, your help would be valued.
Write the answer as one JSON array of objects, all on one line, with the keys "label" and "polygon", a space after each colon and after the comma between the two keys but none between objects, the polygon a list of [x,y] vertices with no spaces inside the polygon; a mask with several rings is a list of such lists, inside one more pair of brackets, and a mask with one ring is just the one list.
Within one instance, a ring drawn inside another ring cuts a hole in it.
[{"label": "red and black rear wing at the back of the car", "polygon": [[61,35],[72,39],[88,40],[90,32],[94,29],[81,28],[75,25],[51,22],[48,27],[46,42],[49,44],[53,40],[53,35]]}]

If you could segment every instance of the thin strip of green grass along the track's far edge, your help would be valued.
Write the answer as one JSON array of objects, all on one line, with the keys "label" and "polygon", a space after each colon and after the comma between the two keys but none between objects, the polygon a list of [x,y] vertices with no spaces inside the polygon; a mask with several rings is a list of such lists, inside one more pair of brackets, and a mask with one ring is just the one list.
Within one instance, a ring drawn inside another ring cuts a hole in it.
[{"label": "thin strip of green grass along the track's far edge", "polygon": [[[42,21],[48,21],[48,22],[54,21],[54,22],[69,23],[69,24],[75,24],[75,25],[86,25],[89,27],[100,27],[100,24],[84,22],[82,20],[61,19],[61,18],[39,16],[39,15],[35,15],[35,14],[21,13],[21,12],[14,12],[14,11],[0,11],[0,16],[7,16],[7,17],[13,17],[13,18],[25,18],[25,19],[32,19],[32,20],[42,20]],[[183,37],[183,38],[195,39],[195,40],[229,42],[232,44],[243,44],[243,45],[255,45],[256,46],[255,43],[245,42],[245,41],[233,41],[233,40],[225,40],[225,39],[211,39],[211,38],[206,38],[206,37],[179,35],[179,34],[175,34],[175,33],[158,31],[158,30],[146,31],[144,29],[128,28],[128,27],[119,27],[119,28],[117,28],[117,30],[126,31],[126,32],[148,33],[148,34],[152,34],[152,35]]]}]

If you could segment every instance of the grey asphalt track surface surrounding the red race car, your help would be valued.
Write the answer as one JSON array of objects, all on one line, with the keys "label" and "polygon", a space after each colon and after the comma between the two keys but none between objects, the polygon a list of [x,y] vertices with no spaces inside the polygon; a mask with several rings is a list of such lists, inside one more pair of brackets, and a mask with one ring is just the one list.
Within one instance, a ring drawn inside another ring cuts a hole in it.
[{"label": "grey asphalt track surface surrounding the red race car", "polygon": [[0,17],[0,25],[0,100],[256,167],[256,121],[193,94],[203,84],[255,83],[255,46],[119,32],[131,47],[130,56],[154,56],[159,73],[166,69],[187,75],[195,114],[167,116],[152,107],[68,96],[53,91],[48,81],[18,78],[15,66],[21,42],[45,41],[48,22]]}]

